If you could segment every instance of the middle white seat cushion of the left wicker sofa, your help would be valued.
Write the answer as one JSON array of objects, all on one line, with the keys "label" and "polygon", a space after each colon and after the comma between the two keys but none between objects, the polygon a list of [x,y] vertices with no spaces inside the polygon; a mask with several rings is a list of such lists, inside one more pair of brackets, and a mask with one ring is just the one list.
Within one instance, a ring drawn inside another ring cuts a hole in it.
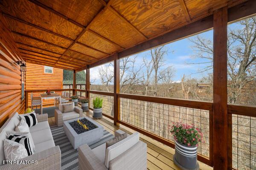
[{"label": "middle white seat cushion of the left wicker sofa", "polygon": [[[31,132],[31,136],[33,138],[35,146],[38,143],[48,141],[51,139],[53,140],[50,128]],[[35,150],[36,150],[36,148],[35,148]]]}]

